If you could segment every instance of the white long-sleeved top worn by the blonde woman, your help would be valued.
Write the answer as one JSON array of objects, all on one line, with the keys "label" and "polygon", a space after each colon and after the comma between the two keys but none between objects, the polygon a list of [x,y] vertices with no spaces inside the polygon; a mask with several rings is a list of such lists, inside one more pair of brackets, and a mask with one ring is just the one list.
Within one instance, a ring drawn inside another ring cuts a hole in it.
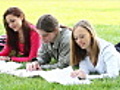
[{"label": "white long-sleeved top worn by the blonde woman", "polygon": [[80,69],[86,74],[98,72],[103,76],[116,77],[120,70],[120,53],[116,51],[113,44],[98,38],[100,53],[97,65],[94,66],[87,56],[79,64]]}]

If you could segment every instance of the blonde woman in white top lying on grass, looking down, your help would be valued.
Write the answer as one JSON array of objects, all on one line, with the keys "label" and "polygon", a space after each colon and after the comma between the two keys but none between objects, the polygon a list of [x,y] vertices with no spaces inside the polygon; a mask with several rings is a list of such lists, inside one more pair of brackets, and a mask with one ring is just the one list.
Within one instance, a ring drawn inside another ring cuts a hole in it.
[{"label": "blonde woman in white top lying on grass, looking down", "polygon": [[116,77],[119,75],[120,54],[113,44],[98,38],[87,20],[79,21],[71,36],[71,65],[79,64],[72,77],[87,78],[90,73]]}]

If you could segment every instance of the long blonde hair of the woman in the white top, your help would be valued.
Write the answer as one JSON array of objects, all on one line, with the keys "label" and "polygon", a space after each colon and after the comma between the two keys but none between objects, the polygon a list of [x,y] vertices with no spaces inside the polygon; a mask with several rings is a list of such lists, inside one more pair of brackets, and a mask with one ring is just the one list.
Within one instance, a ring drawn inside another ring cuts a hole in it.
[{"label": "long blonde hair of the woman in the white top", "polygon": [[92,25],[87,20],[80,20],[78,23],[75,24],[72,31],[71,36],[71,44],[70,44],[70,64],[77,65],[81,60],[83,60],[87,56],[87,51],[85,49],[81,49],[74,40],[74,31],[77,27],[85,28],[91,35],[91,52],[90,52],[90,59],[96,65],[99,48],[98,42],[96,40],[96,33],[92,27]]}]

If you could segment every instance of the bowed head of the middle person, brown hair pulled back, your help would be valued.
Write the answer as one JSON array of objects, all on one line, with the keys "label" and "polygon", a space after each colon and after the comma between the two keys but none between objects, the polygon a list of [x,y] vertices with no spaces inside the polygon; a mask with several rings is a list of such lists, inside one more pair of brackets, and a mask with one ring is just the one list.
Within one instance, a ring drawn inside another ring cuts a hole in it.
[{"label": "bowed head of the middle person, brown hair pulled back", "polygon": [[58,27],[57,19],[50,14],[41,16],[37,22],[38,33],[42,36],[44,43],[54,42]]}]

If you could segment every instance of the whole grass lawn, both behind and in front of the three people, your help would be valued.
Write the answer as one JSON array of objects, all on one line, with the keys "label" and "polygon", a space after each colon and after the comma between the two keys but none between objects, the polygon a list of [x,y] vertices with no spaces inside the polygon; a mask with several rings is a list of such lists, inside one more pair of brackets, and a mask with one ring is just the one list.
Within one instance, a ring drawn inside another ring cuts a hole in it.
[{"label": "whole grass lawn, both behind and in front of the three people", "polygon": [[[33,24],[46,13],[69,27],[80,19],[88,19],[99,37],[113,44],[120,42],[120,0],[0,0],[0,35],[5,34],[2,15],[11,6],[21,8]],[[119,90],[119,83],[120,77],[97,79],[90,85],[63,86],[39,77],[19,78],[0,74],[0,90]]]}]

